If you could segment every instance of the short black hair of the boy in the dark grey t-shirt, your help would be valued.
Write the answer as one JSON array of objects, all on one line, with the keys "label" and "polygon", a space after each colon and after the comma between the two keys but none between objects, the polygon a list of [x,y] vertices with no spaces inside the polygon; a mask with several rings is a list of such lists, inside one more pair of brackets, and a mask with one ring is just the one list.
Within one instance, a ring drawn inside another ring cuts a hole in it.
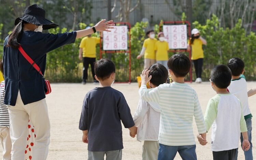
[{"label": "short black hair of the boy in the dark grey t-shirt", "polygon": [[115,73],[116,67],[111,60],[107,58],[103,58],[95,62],[94,71],[95,71],[95,75],[99,79],[105,80],[109,78],[112,73]]}]

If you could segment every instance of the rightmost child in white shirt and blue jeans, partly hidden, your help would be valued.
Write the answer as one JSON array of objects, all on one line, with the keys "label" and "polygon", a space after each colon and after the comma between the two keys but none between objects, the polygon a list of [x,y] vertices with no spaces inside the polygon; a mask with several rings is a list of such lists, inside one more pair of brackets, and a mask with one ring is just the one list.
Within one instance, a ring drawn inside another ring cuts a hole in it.
[{"label": "rightmost child in white shirt and blue jeans, partly hidden", "polygon": [[[241,102],[243,115],[247,126],[248,140],[251,144],[249,150],[244,151],[245,160],[253,159],[252,152],[252,114],[249,109],[247,84],[244,73],[244,62],[239,58],[231,58],[227,64],[232,73],[231,83],[228,86],[228,91],[234,94]],[[249,92],[250,93],[250,92]],[[241,134],[241,143],[243,142],[243,135]],[[238,151],[237,151],[238,155]]]}]

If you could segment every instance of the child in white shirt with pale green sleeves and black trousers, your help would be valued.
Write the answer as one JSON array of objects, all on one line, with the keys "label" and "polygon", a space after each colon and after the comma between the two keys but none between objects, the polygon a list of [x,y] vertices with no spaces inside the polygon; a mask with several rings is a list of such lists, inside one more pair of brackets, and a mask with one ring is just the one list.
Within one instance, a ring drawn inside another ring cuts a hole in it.
[{"label": "child in white shirt with pale green sleeves and black trousers", "polygon": [[[243,150],[250,148],[246,123],[239,99],[227,91],[231,81],[231,71],[225,65],[215,66],[211,71],[211,86],[217,95],[212,97],[204,114],[207,131],[212,126],[211,144],[213,160],[235,160],[242,132]],[[206,139],[198,135],[200,144]]]}]

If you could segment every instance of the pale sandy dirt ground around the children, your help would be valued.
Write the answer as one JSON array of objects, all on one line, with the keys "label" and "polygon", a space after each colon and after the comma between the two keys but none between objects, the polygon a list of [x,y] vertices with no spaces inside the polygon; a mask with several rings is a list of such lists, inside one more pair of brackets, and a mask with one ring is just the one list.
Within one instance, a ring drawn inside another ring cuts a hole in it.
[{"label": "pale sandy dirt ground around the children", "polygon": [[[202,84],[191,83],[199,97],[203,113],[205,112],[208,100],[216,93],[212,90],[209,82]],[[256,82],[248,82],[247,89],[256,86]],[[78,129],[79,119],[82,109],[82,103],[85,94],[97,87],[96,84],[88,83],[72,84],[59,83],[52,84],[52,93],[47,95],[49,117],[51,121],[51,143],[49,145],[49,160],[84,160],[87,159],[87,144],[82,142],[82,131]],[[127,100],[133,115],[139,101],[137,83],[132,84],[114,84],[113,88],[122,92]],[[249,98],[249,105],[253,115],[256,116],[256,95]],[[256,126],[255,118],[252,118],[252,126]],[[196,123],[193,123],[194,134],[197,134]],[[252,132],[253,144],[256,144],[256,132]],[[208,133],[207,140],[210,141],[211,130]],[[196,137],[195,137],[196,139]],[[129,130],[123,127],[123,160],[140,160],[142,154],[142,143],[136,138],[129,136]],[[198,160],[210,160],[212,158],[210,143],[201,146],[196,141],[196,153]],[[253,156],[256,157],[256,147],[253,146]],[[243,151],[239,148],[238,159],[244,159]],[[181,160],[179,154],[175,160]]]}]

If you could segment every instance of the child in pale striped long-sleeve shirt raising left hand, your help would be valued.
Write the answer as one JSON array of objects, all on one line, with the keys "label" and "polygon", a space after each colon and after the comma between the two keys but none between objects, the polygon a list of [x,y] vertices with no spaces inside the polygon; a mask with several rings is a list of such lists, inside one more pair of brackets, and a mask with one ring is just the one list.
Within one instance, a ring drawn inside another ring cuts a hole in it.
[{"label": "child in pale striped long-sleeve shirt raising left hand", "polygon": [[183,160],[196,160],[196,143],[193,134],[193,116],[199,134],[206,138],[202,110],[196,91],[184,82],[190,70],[190,60],[184,54],[175,54],[168,60],[168,74],[173,82],[147,90],[150,70],[143,70],[139,94],[145,101],[159,104],[158,160],[174,159],[177,151]]}]

